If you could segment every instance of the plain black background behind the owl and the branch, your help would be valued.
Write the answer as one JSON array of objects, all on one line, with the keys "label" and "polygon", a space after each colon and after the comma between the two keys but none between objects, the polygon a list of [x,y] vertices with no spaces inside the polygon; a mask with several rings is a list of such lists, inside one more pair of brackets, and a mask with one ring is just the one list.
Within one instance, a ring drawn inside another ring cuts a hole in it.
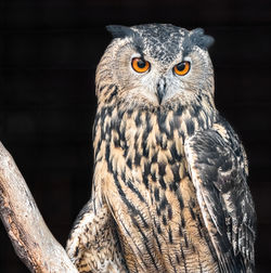
[{"label": "plain black background behind the owl and the branch", "polygon": [[[216,38],[216,104],[241,135],[258,214],[258,272],[271,272],[271,1],[0,1],[0,140],[65,245],[90,197],[94,72],[107,24],[172,23]],[[28,272],[0,224],[0,272]]]}]

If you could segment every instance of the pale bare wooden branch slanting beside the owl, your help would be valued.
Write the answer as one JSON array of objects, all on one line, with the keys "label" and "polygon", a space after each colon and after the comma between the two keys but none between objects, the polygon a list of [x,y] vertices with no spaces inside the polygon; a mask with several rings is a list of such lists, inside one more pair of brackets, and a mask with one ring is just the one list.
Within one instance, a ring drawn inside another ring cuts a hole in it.
[{"label": "pale bare wooden branch slanting beside the owl", "polygon": [[78,273],[46,225],[23,176],[1,142],[0,217],[17,256],[31,272]]}]

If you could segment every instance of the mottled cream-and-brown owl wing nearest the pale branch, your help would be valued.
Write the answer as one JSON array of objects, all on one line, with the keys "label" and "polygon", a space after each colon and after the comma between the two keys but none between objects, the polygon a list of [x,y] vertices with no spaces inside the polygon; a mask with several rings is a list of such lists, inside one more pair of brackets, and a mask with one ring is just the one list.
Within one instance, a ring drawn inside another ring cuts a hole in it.
[{"label": "mottled cream-and-brown owl wing nearest the pale branch", "polygon": [[79,272],[127,272],[114,225],[105,204],[91,199],[82,208],[66,246]]}]

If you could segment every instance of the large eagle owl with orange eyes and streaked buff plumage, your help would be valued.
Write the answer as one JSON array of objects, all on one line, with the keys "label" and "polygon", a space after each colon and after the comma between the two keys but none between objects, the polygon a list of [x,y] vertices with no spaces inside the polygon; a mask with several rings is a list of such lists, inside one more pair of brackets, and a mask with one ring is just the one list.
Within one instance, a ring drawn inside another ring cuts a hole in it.
[{"label": "large eagle owl with orange eyes and streaked buff plumage", "polygon": [[247,159],[214,103],[214,39],[170,24],[107,29],[92,195],[69,258],[79,272],[255,272]]}]

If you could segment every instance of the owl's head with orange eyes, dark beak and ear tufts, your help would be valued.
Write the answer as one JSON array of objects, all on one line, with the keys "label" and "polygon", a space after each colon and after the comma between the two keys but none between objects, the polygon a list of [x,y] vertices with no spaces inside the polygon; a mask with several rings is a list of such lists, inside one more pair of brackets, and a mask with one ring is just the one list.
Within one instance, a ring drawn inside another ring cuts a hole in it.
[{"label": "owl's head with orange eyes, dark beak and ear tufts", "polygon": [[[96,69],[99,102],[127,107],[172,107],[207,100],[214,105],[214,69],[202,28],[169,24],[112,25],[113,41]],[[201,100],[199,100],[201,99]]]}]

